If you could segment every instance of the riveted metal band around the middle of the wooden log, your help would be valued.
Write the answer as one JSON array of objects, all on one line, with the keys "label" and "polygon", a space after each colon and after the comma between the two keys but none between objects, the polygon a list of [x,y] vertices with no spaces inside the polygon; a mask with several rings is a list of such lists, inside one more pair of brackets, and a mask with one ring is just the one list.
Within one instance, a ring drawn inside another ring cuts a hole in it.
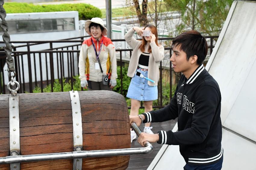
[{"label": "riveted metal band around the middle of the wooden log", "polygon": [[[83,150],[82,115],[78,91],[69,91],[73,118],[73,148],[74,151]],[[82,170],[82,160],[74,159],[73,170]]]}]

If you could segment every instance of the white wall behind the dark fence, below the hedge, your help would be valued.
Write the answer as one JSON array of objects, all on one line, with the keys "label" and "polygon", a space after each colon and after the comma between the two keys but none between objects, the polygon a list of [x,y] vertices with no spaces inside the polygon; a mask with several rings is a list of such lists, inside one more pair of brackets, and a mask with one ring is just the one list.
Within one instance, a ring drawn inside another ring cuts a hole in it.
[{"label": "white wall behind the dark fence, below the hedge", "polygon": [[[10,34],[11,41],[46,41],[46,40],[61,40],[67,39],[72,37],[80,37],[80,29],[79,29],[79,17],[78,11],[66,11],[66,12],[43,12],[43,13],[10,13],[6,16],[6,21],[14,21],[14,20],[35,20],[35,19],[61,19],[61,18],[74,18],[75,21],[75,30],[71,31],[50,31],[50,32],[33,32],[33,33],[15,33]],[[60,47],[60,46],[68,46],[71,44],[79,44],[79,43],[53,43],[53,48]],[[15,43],[15,46],[24,45]],[[35,46],[30,46],[30,51],[39,51],[44,49],[49,49],[50,44],[40,44]],[[71,48],[70,48],[71,49]],[[76,49],[76,48],[75,48]],[[27,51],[27,47],[20,47],[16,49],[17,51]],[[57,56],[54,55],[53,57],[54,63],[57,63]],[[75,67],[77,66],[77,56],[74,56]],[[35,81],[35,74],[34,74],[34,59],[33,55],[31,54],[31,70],[32,70],[32,80]],[[48,79],[50,79],[50,60],[48,56]],[[64,57],[64,64],[67,64],[67,55]],[[21,65],[21,61],[20,61]],[[28,74],[28,60],[27,55],[23,55],[23,67],[24,67],[24,82],[29,82],[29,74]],[[67,67],[67,66],[66,66]],[[7,65],[5,64],[4,70],[7,69]],[[77,70],[77,69],[75,69]],[[21,75],[22,70],[21,71]],[[65,76],[67,75],[67,69],[64,69]],[[39,54],[36,54],[36,78],[37,81],[40,80],[40,68],[39,68]],[[43,77],[42,80],[46,80],[46,63],[45,63],[45,55],[42,54],[42,72]],[[5,84],[8,83],[8,75],[7,72],[5,74]],[[77,72],[75,73],[78,74]],[[60,76],[60,75],[59,75]],[[55,68],[54,78],[58,78],[57,68]],[[19,80],[20,83],[23,83],[23,80]]]}]

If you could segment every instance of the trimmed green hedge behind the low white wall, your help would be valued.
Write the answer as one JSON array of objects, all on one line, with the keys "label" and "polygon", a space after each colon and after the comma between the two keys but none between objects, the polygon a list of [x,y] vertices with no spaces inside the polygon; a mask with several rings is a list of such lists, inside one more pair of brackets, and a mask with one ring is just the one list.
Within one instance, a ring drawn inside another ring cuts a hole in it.
[{"label": "trimmed green hedge behind the low white wall", "polygon": [[78,11],[79,19],[101,18],[101,10],[90,4],[59,4],[59,5],[34,5],[29,3],[7,2],[4,4],[6,13],[30,13],[30,12],[57,12]]}]

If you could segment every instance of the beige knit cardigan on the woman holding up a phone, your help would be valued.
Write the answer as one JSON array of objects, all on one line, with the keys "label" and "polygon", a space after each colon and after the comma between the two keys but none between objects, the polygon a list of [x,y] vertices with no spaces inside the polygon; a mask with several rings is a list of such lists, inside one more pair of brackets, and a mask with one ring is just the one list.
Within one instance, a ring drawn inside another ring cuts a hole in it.
[{"label": "beige knit cardigan on the woman holding up a phone", "polygon": [[[128,67],[127,76],[133,77],[138,64],[139,64],[139,57],[142,54],[139,46],[142,41],[136,40],[133,37],[134,30],[131,28],[124,36],[126,42],[132,47],[133,53],[130,58],[130,63]],[[159,45],[157,46],[155,42],[149,43],[151,46],[152,52],[149,54],[149,61],[148,61],[148,78],[155,81],[155,83],[148,81],[148,85],[157,86],[159,80],[159,63],[164,58],[164,46]]]}]

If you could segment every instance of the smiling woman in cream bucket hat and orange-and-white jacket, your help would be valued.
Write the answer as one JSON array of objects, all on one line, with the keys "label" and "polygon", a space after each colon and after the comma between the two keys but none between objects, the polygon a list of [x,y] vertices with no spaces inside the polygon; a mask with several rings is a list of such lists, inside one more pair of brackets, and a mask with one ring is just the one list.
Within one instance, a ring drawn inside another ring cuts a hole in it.
[{"label": "smiling woman in cream bucket hat and orange-and-white jacket", "polygon": [[91,37],[84,40],[79,55],[81,87],[88,90],[112,90],[117,85],[116,50],[105,37],[107,28],[101,18],[87,20],[85,31]]}]

